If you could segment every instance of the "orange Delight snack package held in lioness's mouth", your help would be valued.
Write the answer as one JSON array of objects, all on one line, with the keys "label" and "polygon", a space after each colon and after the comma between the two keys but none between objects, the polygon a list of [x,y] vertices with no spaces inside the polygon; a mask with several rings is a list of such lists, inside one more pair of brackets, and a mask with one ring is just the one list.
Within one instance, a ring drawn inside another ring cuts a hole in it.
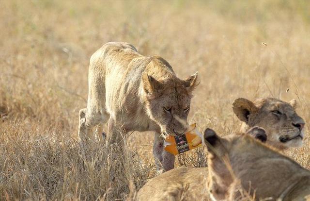
[{"label": "orange Delight snack package held in lioness's mouth", "polygon": [[184,153],[202,145],[202,134],[196,128],[196,123],[189,126],[182,136],[168,135],[164,141],[164,148],[173,155]]}]

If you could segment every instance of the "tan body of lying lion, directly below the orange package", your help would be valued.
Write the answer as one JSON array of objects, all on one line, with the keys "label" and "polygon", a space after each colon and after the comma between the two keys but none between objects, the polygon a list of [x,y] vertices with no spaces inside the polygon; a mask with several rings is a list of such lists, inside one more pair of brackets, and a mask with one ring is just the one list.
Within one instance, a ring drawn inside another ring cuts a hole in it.
[{"label": "tan body of lying lion, directly below the orange package", "polygon": [[146,183],[136,201],[206,201],[207,168],[180,167],[167,171]]}]

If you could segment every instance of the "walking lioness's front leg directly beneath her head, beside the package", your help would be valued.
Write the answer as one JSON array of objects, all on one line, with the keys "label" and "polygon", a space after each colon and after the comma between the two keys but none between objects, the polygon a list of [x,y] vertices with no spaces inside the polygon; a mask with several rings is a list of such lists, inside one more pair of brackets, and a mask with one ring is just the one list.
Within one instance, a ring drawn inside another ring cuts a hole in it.
[{"label": "walking lioness's front leg directly beneath her head, beside the package", "polygon": [[164,150],[164,139],[160,137],[159,133],[155,133],[153,154],[158,173],[174,168],[175,156]]}]

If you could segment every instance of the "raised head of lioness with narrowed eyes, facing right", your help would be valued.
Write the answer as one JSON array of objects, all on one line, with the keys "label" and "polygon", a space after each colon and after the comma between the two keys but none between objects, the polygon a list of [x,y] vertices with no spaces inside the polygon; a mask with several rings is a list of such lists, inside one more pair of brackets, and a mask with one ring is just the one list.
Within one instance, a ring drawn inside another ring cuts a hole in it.
[{"label": "raised head of lioness with narrowed eyes, facing right", "polygon": [[274,98],[254,102],[239,98],[233,102],[233,112],[244,121],[241,131],[263,127],[267,143],[281,150],[303,144],[305,121],[296,114],[295,107],[295,100],[288,103]]}]

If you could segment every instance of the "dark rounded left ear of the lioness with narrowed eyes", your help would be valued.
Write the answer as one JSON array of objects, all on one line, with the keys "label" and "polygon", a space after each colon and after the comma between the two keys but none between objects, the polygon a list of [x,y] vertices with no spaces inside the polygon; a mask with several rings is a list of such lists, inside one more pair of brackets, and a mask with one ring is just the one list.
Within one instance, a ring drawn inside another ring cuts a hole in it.
[{"label": "dark rounded left ear of the lioness with narrowed eyes", "polygon": [[248,123],[249,115],[258,111],[252,101],[239,98],[233,101],[233,112],[241,120]]}]

